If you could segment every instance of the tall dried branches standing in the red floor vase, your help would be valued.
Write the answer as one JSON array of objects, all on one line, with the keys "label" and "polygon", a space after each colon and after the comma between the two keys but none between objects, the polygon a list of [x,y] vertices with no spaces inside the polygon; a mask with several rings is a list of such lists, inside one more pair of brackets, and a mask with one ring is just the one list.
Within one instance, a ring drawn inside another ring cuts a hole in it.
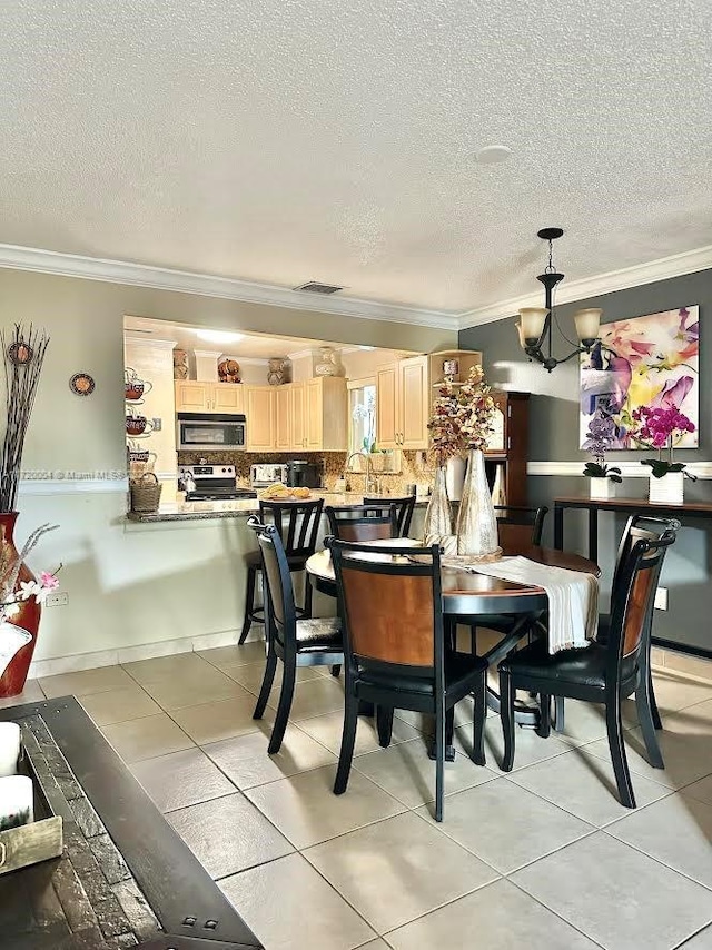
[{"label": "tall dried branches standing in the red floor vase", "polygon": [[16,324],[0,330],[4,360],[7,427],[0,459],[0,512],[12,512],[18,495],[24,437],[30,424],[49,337]]}]

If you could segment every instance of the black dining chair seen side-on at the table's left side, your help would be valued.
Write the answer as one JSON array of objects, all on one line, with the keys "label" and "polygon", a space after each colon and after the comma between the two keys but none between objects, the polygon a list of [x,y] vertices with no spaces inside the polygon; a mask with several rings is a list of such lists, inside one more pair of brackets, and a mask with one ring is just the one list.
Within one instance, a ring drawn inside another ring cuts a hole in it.
[{"label": "black dining chair seen side-on at the table's left side", "polygon": [[261,719],[275,679],[277,660],[284,663],[277,715],[269,754],[279,752],[294,697],[299,666],[336,666],[344,662],[340,622],[335,617],[297,617],[287,553],[277,526],[253,516],[248,527],[257,534],[265,576],[265,634],[267,665],[253,719]]}]

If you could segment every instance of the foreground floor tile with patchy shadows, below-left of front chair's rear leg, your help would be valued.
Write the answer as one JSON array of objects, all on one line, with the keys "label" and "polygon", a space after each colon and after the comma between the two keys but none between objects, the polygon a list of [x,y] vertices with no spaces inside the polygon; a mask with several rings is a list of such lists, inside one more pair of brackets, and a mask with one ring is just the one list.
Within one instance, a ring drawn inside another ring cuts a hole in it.
[{"label": "foreground floor tile with patchy shadows, below-left of front chair's rear leg", "polygon": [[309,848],[304,857],[382,934],[498,877],[413,812]]}]

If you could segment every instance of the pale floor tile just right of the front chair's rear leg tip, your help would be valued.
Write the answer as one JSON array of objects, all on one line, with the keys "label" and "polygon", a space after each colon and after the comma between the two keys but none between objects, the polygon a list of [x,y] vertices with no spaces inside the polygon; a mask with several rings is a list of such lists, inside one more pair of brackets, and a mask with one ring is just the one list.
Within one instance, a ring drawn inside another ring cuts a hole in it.
[{"label": "pale floor tile just right of the front chair's rear leg tip", "polygon": [[[429,817],[426,809],[417,813]],[[502,874],[595,830],[507,779],[452,795],[436,827]]]}]

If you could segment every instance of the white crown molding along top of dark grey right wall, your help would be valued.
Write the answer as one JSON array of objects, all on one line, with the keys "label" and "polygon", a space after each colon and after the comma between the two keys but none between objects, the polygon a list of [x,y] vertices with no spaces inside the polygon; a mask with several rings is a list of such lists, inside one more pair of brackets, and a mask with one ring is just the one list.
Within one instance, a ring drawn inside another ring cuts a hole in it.
[{"label": "white crown molding along top of dark grey right wall", "polygon": [[[616,290],[626,290],[629,287],[640,287],[643,284],[654,284],[657,280],[670,280],[672,277],[682,277],[684,274],[694,274],[698,270],[710,268],[712,268],[712,245],[700,247],[696,250],[688,250],[683,254],[673,254],[670,257],[661,257],[647,264],[636,264],[634,267],[610,270],[607,274],[599,274],[595,277],[584,277],[581,280],[563,283],[556,288],[556,303],[571,304],[575,300],[600,297],[603,294],[613,294]],[[513,297],[498,304],[490,304],[486,307],[478,307],[461,314],[457,318],[459,329],[464,330],[468,327],[514,317],[522,307],[541,306],[541,293]]]}]

